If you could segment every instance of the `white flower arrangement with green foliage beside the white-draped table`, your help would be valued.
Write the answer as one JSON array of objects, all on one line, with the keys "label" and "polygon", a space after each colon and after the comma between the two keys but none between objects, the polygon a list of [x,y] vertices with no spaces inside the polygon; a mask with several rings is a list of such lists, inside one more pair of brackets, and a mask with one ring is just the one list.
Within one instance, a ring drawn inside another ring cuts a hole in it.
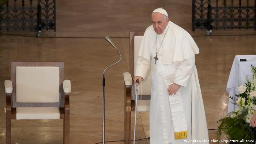
[{"label": "white flower arrangement with green foliage beside the white-draped table", "polygon": [[[224,118],[217,122],[220,123],[217,131],[217,138],[221,139],[223,134],[229,140],[249,140],[249,131],[252,127],[249,125],[250,120],[256,110],[256,68],[251,65],[252,80],[249,81],[246,75],[246,84],[238,87],[238,98],[233,99],[233,103],[237,105],[235,111],[230,112]],[[251,136],[254,140],[254,135]]]}]

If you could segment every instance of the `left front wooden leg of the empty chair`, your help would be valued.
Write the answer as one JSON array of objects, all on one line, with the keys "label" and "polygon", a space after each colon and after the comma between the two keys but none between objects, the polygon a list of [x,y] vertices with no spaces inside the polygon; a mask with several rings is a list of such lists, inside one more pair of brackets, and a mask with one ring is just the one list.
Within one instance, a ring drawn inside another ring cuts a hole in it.
[{"label": "left front wooden leg of the empty chair", "polygon": [[12,130],[12,108],[11,108],[11,94],[6,94],[6,137],[5,143],[11,144],[11,130]]}]

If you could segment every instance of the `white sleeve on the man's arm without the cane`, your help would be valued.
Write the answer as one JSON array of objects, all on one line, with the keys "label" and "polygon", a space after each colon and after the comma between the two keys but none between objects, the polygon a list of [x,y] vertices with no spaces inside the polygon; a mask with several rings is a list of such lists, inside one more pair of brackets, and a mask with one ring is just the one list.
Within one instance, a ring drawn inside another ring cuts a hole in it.
[{"label": "white sleeve on the man's arm without the cane", "polygon": [[174,83],[186,87],[195,67],[195,57],[179,62]]}]

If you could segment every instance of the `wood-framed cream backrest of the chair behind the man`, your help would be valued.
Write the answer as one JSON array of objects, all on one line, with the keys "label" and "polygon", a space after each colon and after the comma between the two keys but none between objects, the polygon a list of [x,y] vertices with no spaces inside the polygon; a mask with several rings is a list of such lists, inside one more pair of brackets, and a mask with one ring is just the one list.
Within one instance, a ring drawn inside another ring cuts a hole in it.
[{"label": "wood-framed cream backrest of the chair behind the man", "polygon": [[[136,72],[136,64],[139,57],[138,54],[139,54],[139,49],[142,42],[143,34],[144,32],[130,32],[130,73],[132,77],[134,77],[134,74]],[[133,90],[133,91],[136,92],[136,90]],[[151,71],[149,70],[147,76],[145,77],[145,80],[139,85],[138,95],[150,96],[150,94],[151,94]],[[145,99],[148,99],[148,98],[145,98]]]}]

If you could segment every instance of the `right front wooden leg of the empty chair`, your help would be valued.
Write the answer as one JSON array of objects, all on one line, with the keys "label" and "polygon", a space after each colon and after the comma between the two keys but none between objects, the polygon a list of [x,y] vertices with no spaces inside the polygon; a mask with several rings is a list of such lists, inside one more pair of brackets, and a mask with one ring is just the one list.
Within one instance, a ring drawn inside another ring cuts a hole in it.
[{"label": "right front wooden leg of the empty chair", "polygon": [[63,144],[69,144],[69,93],[64,94]]}]

